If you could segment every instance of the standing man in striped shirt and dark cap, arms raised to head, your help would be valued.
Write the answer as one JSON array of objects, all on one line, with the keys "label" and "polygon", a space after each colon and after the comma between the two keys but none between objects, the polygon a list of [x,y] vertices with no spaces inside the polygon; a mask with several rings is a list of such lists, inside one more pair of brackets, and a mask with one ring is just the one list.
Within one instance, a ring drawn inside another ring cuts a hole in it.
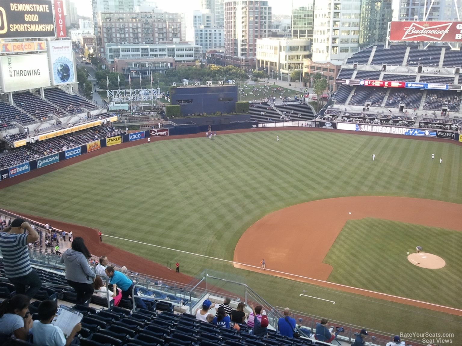
[{"label": "standing man in striped shirt and dark cap, arms raised to head", "polygon": [[42,286],[40,277],[30,266],[27,248],[29,243],[37,240],[36,230],[21,218],[13,220],[9,227],[0,231],[0,253],[6,277],[16,288],[16,294],[25,294],[29,298],[34,297]]}]

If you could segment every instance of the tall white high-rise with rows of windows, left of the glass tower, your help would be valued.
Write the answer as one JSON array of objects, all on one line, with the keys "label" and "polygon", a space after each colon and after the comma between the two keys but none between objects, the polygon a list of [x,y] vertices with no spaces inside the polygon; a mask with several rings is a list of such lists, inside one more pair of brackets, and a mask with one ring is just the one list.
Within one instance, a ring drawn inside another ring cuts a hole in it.
[{"label": "tall white high-rise with rows of windows, left of the glass tower", "polygon": [[313,61],[343,60],[359,50],[361,0],[315,1]]}]

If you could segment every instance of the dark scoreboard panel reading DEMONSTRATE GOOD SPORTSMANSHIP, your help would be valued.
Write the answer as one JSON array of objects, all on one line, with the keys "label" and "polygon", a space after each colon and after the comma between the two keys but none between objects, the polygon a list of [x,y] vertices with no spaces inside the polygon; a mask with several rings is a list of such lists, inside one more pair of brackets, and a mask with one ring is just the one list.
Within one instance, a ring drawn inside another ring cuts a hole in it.
[{"label": "dark scoreboard panel reading DEMONSTRATE GOOD SPORTSMANSHIP", "polygon": [[50,0],[14,0],[0,4],[0,38],[55,37]]}]

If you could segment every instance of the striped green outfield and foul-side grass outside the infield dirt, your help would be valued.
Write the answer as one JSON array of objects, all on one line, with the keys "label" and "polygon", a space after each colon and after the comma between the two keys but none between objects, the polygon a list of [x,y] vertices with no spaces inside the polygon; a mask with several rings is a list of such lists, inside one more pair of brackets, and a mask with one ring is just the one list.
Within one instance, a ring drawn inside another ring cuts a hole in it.
[{"label": "striped green outfield and foul-side grass outside the infield dirt", "polygon": [[[213,141],[172,139],[109,152],[3,189],[0,205],[96,227],[108,235],[232,260],[237,240],[250,225],[297,203],[354,195],[462,203],[462,151],[453,144],[310,131],[277,133],[280,142],[276,132],[264,131],[219,134]],[[377,155],[374,162],[372,153]],[[442,165],[431,160],[432,153],[443,157]],[[179,260],[182,271],[190,275],[204,268],[241,275],[271,304],[366,328],[448,333],[460,330],[462,323],[457,316],[235,269],[203,257],[108,237],[104,241],[156,262]],[[438,246],[449,245],[448,239],[440,242]],[[378,267],[377,275],[379,269],[386,275],[388,268]],[[409,292],[409,286],[394,279],[384,281],[381,291],[412,296],[418,289]],[[302,290],[336,304],[299,297]],[[424,300],[432,300],[432,292]],[[462,307],[460,299],[450,305]]]}]

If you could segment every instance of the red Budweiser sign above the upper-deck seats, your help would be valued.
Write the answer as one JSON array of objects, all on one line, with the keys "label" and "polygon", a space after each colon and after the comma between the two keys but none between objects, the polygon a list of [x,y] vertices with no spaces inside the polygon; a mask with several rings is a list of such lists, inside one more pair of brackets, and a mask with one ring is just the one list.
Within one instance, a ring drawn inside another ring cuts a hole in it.
[{"label": "red Budweiser sign above the upper-deck seats", "polygon": [[462,42],[462,22],[391,22],[390,41]]}]

